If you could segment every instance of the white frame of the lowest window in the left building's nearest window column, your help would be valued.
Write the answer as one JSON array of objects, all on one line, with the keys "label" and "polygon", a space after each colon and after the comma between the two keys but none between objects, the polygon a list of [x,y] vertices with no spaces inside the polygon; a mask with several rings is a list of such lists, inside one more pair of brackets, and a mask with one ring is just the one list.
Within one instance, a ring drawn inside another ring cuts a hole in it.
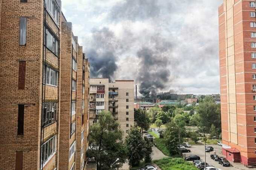
[{"label": "white frame of the lowest window in the left building's nearest window column", "polygon": [[[52,153],[49,155],[49,142],[52,142],[51,144],[50,144],[50,148],[51,148],[51,146],[52,146]],[[47,159],[46,159],[46,157],[45,157],[45,151],[46,151],[46,144],[47,144]],[[46,142],[44,142],[43,143],[43,145],[41,146],[41,149],[42,149],[42,153],[41,153],[41,158],[43,158],[42,156],[43,156],[43,154],[44,154],[44,160],[41,160],[41,161],[43,161],[43,167],[44,167],[44,165],[46,165],[49,161],[50,161],[50,159],[52,159],[52,157],[53,157],[53,155],[55,155],[55,153],[56,153],[56,135],[55,136],[53,136],[53,137],[51,137],[49,140],[47,140]],[[43,168],[42,167],[42,168]]]}]

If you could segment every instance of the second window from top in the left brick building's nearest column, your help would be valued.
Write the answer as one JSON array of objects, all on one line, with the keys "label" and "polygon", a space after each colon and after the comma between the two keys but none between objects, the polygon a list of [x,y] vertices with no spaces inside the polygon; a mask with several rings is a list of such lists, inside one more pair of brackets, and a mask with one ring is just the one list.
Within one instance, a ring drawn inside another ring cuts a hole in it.
[{"label": "second window from top in the left brick building's nearest column", "polygon": [[56,56],[58,56],[58,45],[59,41],[55,37],[55,35],[49,31],[49,29],[46,29],[46,47],[52,51]]}]

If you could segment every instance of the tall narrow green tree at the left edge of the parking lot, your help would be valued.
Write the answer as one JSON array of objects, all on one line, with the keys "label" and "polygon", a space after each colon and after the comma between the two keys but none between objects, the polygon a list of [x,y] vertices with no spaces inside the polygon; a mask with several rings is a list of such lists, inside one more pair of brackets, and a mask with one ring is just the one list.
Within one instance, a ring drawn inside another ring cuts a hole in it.
[{"label": "tall narrow green tree at the left edge of the parking lot", "polygon": [[179,145],[179,127],[174,121],[166,125],[163,139],[171,155],[175,155],[179,152],[177,147]]}]

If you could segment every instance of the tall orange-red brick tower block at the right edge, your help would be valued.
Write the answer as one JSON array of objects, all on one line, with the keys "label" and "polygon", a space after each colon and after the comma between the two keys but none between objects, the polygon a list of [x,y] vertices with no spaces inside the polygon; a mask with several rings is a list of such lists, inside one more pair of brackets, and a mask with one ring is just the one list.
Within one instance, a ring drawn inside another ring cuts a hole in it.
[{"label": "tall orange-red brick tower block at the right edge", "polygon": [[222,150],[227,159],[256,164],[255,0],[219,6]]}]

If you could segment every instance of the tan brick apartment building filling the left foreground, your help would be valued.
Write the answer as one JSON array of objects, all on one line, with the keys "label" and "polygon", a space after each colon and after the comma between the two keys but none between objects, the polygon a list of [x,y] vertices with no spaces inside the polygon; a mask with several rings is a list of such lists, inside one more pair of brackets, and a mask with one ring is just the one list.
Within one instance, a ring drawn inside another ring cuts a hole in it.
[{"label": "tan brick apartment building filling the left foreground", "polygon": [[0,0],[0,169],[84,169],[90,65],[77,41],[60,0]]}]

